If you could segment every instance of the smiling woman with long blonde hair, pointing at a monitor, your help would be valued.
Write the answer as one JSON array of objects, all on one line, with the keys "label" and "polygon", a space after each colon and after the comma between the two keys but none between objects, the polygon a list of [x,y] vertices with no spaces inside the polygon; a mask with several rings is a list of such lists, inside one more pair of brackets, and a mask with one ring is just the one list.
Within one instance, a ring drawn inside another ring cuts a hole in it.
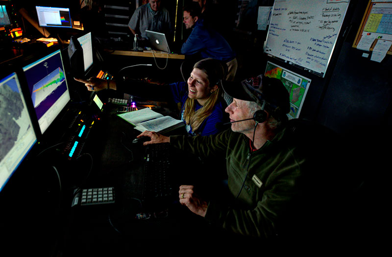
[{"label": "smiling woman with long blonde hair, pointing at a monitor", "polygon": [[[223,128],[217,123],[229,120],[224,109],[226,102],[221,96],[220,81],[225,77],[227,66],[212,58],[198,61],[186,82],[166,85],[140,81],[106,81],[98,78],[75,80],[85,84],[89,91],[113,89],[153,101],[174,101],[180,106],[180,117],[190,136],[208,136]],[[132,84],[130,87],[129,85]]]}]

